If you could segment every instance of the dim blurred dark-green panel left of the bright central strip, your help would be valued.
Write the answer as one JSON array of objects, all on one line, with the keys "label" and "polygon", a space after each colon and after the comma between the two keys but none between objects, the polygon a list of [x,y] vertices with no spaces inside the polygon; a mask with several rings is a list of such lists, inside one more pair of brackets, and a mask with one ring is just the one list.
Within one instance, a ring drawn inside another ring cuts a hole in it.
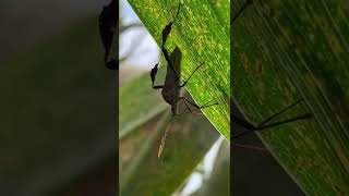
[{"label": "dim blurred dark-green panel left of the bright central strip", "polygon": [[107,1],[1,1],[0,195],[116,195],[117,74]]}]

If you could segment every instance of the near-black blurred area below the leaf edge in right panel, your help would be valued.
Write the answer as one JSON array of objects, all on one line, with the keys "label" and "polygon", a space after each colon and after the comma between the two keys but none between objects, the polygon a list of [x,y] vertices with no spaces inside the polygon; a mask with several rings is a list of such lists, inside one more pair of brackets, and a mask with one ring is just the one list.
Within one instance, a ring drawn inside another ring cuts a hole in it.
[{"label": "near-black blurred area below the leaf edge in right panel", "polygon": [[234,140],[231,150],[232,195],[304,196],[293,179],[264,148],[256,134]]}]

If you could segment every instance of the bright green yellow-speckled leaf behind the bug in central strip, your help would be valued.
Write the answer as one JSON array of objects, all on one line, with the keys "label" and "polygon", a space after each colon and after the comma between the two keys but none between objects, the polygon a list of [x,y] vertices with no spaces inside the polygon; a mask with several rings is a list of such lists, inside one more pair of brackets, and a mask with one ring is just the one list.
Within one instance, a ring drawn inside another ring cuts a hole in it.
[{"label": "bright green yellow-speckled leaf behind the bug in central strip", "polygon": [[[161,46],[163,28],[173,20],[179,1],[129,2],[158,46]],[[173,23],[166,48],[172,51],[176,45],[182,51],[182,81],[185,81],[201,62],[205,62],[203,69],[200,69],[188,83],[186,88],[197,105],[208,101],[219,103],[203,112],[229,140],[230,40],[229,20],[226,17],[229,13],[228,3],[185,1]]]}]

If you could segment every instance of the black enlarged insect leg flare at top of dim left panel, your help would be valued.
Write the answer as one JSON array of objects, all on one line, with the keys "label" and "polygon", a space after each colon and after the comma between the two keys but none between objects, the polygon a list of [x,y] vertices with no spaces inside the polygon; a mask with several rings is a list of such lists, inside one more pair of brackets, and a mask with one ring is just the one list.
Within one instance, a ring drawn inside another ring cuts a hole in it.
[{"label": "black enlarged insect leg flare at top of dim left panel", "polygon": [[118,27],[118,2],[112,0],[107,7],[103,8],[99,14],[99,34],[105,48],[104,61],[109,70],[118,70],[117,61],[115,58],[109,58],[113,34]]}]

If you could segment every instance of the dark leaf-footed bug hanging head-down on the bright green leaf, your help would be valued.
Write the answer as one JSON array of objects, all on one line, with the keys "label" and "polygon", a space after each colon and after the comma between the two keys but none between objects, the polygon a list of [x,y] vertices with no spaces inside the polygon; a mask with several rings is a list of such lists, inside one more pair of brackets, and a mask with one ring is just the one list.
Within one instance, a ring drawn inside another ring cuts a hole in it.
[{"label": "dark leaf-footed bug hanging head-down on the bright green leaf", "polygon": [[[215,103],[209,103],[212,101],[208,101],[207,103],[203,105],[203,106],[198,106],[196,103],[194,103],[193,101],[190,101],[188,98],[185,97],[182,97],[180,96],[180,89],[182,87],[184,87],[188,82],[190,81],[190,78],[194,75],[194,73],[204,65],[204,62],[202,62],[193,72],[192,74],[183,82],[181,83],[181,79],[180,79],[180,76],[181,76],[181,59],[182,59],[182,52],[181,50],[176,46],[174,50],[172,51],[171,53],[171,57],[169,56],[167,49],[165,48],[165,45],[166,45],[166,41],[167,41],[167,38],[171,32],[171,28],[172,28],[172,25],[174,23],[174,20],[178,17],[178,14],[180,12],[180,8],[181,8],[181,3],[179,3],[178,5],[178,11],[177,11],[177,14],[173,19],[172,22],[170,22],[168,25],[165,26],[165,28],[163,29],[163,45],[161,45],[161,51],[163,51],[163,54],[167,61],[167,72],[166,72],[166,78],[165,78],[165,84],[163,85],[155,85],[155,77],[156,77],[156,74],[157,74],[157,68],[158,68],[158,63],[155,64],[155,66],[152,69],[151,71],[151,78],[152,78],[152,87],[154,89],[161,89],[161,95],[163,95],[163,98],[164,100],[171,106],[171,121],[170,123],[172,122],[172,119],[174,115],[178,115],[178,111],[177,111],[177,108],[178,108],[178,105],[180,101],[183,101],[188,111],[190,113],[193,113],[194,110],[192,110],[190,108],[190,106],[194,107],[195,110],[201,110],[201,109],[204,109],[204,108],[207,108],[207,107],[212,107],[212,106],[215,106],[215,105],[218,105],[217,102]],[[164,149],[164,146],[165,146],[165,140],[166,140],[166,136],[167,136],[167,132],[168,132],[169,128],[166,130],[163,138],[161,138],[161,144],[160,144],[160,147],[159,147],[159,150],[158,150],[158,158],[160,157],[161,155],[161,151]]]}]

